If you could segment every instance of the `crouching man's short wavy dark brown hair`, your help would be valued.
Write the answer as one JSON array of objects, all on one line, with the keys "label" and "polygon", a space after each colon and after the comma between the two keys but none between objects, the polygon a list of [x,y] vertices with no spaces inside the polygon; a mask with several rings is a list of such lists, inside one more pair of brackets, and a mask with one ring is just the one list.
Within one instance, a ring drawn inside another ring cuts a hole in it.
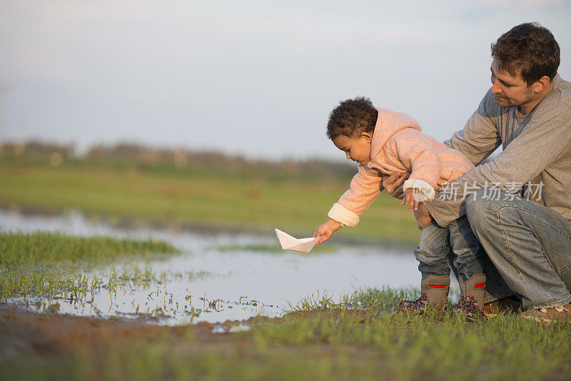
[{"label": "crouching man's short wavy dark brown hair", "polygon": [[525,83],[531,86],[542,76],[555,78],[560,49],[549,29],[539,23],[525,23],[514,26],[492,44],[492,57],[499,61],[500,70],[512,76],[521,68]]}]

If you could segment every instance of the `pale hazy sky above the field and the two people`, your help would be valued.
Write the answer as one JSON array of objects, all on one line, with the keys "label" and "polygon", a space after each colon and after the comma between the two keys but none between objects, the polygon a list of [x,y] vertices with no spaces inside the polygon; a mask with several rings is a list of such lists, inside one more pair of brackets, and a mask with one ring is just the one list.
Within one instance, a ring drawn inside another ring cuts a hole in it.
[{"label": "pale hazy sky above the field and the two people", "polygon": [[490,88],[490,44],[538,21],[571,78],[571,1],[0,0],[0,138],[343,160],[367,96],[439,141]]}]

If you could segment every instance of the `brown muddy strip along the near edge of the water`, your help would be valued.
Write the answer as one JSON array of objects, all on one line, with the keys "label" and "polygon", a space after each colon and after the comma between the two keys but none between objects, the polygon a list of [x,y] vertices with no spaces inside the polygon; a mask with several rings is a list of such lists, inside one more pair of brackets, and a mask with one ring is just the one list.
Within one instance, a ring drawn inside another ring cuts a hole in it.
[{"label": "brown muddy strip along the near edge of the water", "polygon": [[[345,310],[345,315],[360,320],[367,317],[364,310]],[[340,310],[298,311],[285,317],[251,317],[248,320],[226,322],[198,322],[195,325],[176,327],[161,326],[156,318],[146,315],[125,319],[121,317],[79,317],[60,313],[36,313],[17,305],[0,303],[0,359],[6,355],[6,347],[16,348],[18,355],[60,356],[69,355],[89,347],[97,352],[111,341],[121,345],[135,339],[153,340],[160,337],[173,347],[186,347],[193,352],[208,346],[236,347],[243,345],[241,335],[229,334],[233,327],[256,327],[270,321],[313,317],[315,319],[338,317]],[[4,352],[4,353],[3,353]],[[14,355],[14,354],[13,354]]]}]

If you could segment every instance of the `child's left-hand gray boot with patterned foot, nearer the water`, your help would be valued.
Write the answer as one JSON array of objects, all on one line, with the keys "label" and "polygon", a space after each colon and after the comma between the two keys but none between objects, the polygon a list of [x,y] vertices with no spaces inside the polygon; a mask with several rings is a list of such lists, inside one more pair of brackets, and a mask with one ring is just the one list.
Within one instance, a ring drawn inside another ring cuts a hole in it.
[{"label": "child's left-hand gray boot with patterned foot, nearer the water", "polygon": [[420,297],[417,300],[400,300],[398,310],[409,313],[424,313],[427,305],[441,310],[448,303],[450,291],[449,275],[428,275],[420,283]]}]

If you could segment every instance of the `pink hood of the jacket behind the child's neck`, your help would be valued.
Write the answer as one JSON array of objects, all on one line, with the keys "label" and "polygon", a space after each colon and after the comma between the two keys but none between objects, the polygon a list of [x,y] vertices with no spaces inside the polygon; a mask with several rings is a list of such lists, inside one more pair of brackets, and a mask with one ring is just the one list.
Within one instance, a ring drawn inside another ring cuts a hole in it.
[{"label": "pink hood of the jacket behind the child's neck", "polygon": [[420,131],[420,125],[415,118],[405,113],[391,111],[388,108],[377,108],[378,116],[373,132],[373,140],[370,143],[370,157],[374,158],[396,132],[403,128],[414,128]]}]

